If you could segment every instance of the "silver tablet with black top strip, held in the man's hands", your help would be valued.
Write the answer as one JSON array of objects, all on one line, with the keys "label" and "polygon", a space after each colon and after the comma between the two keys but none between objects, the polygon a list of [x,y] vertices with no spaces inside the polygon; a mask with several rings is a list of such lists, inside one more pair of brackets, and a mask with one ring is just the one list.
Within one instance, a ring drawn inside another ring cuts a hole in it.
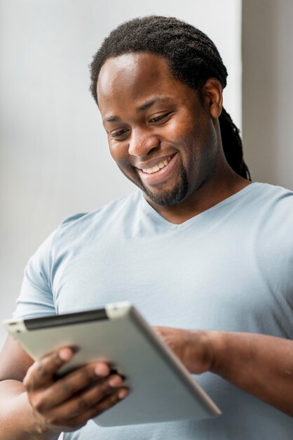
[{"label": "silver tablet with black top strip, held in the man's hands", "polygon": [[34,360],[59,347],[76,347],[60,375],[106,361],[125,377],[128,396],[93,420],[100,426],[137,425],[221,414],[184,365],[128,302],[104,309],[4,321]]}]

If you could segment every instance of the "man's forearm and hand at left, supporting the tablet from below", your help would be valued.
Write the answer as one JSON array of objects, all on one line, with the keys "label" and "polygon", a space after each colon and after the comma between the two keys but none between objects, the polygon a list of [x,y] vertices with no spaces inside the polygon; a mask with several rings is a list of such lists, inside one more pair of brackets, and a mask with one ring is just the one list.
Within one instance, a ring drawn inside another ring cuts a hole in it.
[{"label": "man's forearm and hand at left, supporting the tablet from below", "polygon": [[8,338],[0,355],[0,440],[57,439],[60,432],[79,429],[127,394],[122,378],[109,375],[109,365],[102,362],[55,380],[72,356],[64,347],[33,362]]}]

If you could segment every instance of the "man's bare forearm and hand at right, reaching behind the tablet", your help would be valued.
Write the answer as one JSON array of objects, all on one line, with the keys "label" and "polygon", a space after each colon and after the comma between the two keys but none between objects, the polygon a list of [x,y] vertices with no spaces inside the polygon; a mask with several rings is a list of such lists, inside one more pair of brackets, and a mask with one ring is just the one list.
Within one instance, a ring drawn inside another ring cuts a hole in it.
[{"label": "man's bare forearm and hand at right, reaching behind the tablet", "polygon": [[293,417],[293,341],[254,333],[154,329],[191,373],[216,373]]}]

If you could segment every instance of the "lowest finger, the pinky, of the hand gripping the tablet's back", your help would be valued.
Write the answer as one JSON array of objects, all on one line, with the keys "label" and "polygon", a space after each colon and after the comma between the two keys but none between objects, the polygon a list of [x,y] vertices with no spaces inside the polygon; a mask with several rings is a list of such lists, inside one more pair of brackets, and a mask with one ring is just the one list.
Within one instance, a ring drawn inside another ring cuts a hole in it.
[{"label": "lowest finger, the pinky, of the hand gripping the tablet's back", "polygon": [[112,406],[116,405],[116,403],[125,399],[128,393],[129,390],[127,388],[117,389],[111,394],[107,394],[107,396],[104,396],[102,400],[98,401],[93,406],[90,406],[90,408],[84,410],[77,417],[67,420],[60,420],[60,419],[55,420],[55,425],[58,426],[63,425],[68,428],[76,427],[77,425],[84,425],[88,420],[96,417],[97,415],[104,413],[104,411],[108,410]]}]

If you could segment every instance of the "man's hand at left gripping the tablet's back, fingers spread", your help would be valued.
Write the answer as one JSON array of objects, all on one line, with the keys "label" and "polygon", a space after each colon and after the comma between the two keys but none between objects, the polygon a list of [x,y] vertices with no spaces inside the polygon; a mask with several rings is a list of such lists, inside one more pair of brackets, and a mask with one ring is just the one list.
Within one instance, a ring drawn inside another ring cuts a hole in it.
[{"label": "man's hand at left gripping the tablet's back, fingers spread", "polygon": [[73,351],[65,347],[27,370],[23,384],[40,434],[74,431],[128,394],[128,389],[121,387],[123,378],[110,375],[109,365],[102,362],[90,363],[54,380],[57,370],[72,356]]}]

